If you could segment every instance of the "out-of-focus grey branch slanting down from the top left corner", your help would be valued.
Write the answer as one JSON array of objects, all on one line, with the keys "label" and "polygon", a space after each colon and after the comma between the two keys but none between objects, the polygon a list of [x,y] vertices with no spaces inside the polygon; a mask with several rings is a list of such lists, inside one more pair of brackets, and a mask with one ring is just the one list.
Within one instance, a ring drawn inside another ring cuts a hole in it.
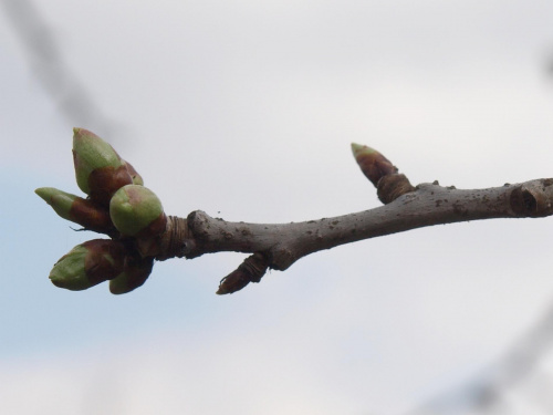
[{"label": "out-of-focus grey branch slanting down from the top left corner", "polygon": [[21,40],[31,70],[71,126],[90,126],[106,135],[115,129],[63,61],[50,27],[31,0],[1,0],[8,21]]}]

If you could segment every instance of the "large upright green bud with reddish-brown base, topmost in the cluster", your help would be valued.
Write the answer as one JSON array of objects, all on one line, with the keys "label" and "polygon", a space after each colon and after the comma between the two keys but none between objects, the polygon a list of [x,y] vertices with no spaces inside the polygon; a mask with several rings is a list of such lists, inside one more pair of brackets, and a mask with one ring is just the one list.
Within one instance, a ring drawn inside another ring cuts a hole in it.
[{"label": "large upright green bud with reddish-brown base, topmost in the cluster", "polygon": [[93,200],[107,205],[121,187],[133,183],[113,147],[94,133],[73,128],[73,162],[76,183]]}]

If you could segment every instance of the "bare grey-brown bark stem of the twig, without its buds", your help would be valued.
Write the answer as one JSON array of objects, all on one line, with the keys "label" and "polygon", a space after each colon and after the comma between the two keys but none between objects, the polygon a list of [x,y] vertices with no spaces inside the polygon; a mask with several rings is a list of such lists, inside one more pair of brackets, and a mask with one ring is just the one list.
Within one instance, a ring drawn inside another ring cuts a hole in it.
[{"label": "bare grey-brown bark stem of the twig, without its buds", "polygon": [[[374,209],[291,224],[230,222],[201,210],[170,217],[170,238],[158,259],[196,258],[220,251],[251,252],[267,268],[285,270],[300,258],[340,245],[432,225],[553,214],[553,179],[461,190],[437,181],[421,184]],[[178,229],[178,230],[175,230]]]}]

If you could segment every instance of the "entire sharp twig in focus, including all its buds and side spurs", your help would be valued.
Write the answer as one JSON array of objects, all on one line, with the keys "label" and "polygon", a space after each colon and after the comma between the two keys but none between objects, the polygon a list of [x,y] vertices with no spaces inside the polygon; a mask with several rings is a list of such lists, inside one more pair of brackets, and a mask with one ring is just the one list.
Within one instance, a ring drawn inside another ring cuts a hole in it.
[{"label": "entire sharp twig in focus, including all its buds and side spurs", "polygon": [[[442,187],[438,181],[414,187],[377,151],[358,144],[352,144],[352,149],[384,206],[298,224],[229,222],[201,210],[185,219],[166,216],[142,176],[109,144],[92,132],[74,128],[75,177],[88,197],[51,187],[35,191],[62,218],[105,234],[112,241],[79,245],[56,262],[50,279],[70,290],[109,280],[113,293],[125,293],[146,281],[154,259],[252,253],[221,280],[217,293],[227,294],[259,282],[268,269],[283,271],[302,257],[344,243],[431,225],[553,215],[550,178],[473,190]],[[106,258],[109,272],[98,274]]]}]

